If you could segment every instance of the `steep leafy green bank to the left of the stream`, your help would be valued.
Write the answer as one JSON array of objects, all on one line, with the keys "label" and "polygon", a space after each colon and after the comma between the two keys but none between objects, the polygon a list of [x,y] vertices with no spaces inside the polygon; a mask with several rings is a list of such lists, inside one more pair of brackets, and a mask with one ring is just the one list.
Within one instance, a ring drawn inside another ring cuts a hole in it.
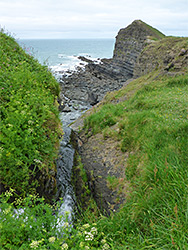
[{"label": "steep leafy green bank to the left of the stream", "polygon": [[5,188],[27,193],[36,188],[37,169],[55,170],[58,94],[47,68],[0,32],[0,176]]}]

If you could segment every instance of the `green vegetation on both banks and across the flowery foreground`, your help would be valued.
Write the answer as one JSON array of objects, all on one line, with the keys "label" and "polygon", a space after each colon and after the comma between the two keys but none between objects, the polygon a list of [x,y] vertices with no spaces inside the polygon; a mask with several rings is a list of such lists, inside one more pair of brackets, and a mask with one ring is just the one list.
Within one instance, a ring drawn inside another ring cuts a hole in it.
[{"label": "green vegetation on both banks and across the flowery foreground", "polygon": [[[188,70],[177,76],[159,73],[109,94],[85,120],[88,136],[112,136],[129,153],[126,203],[109,217],[92,204],[74,227],[66,218],[59,227],[61,218],[53,215],[58,205],[26,195],[36,185],[35,170],[50,172],[54,165],[58,84],[14,39],[0,33],[0,175],[10,189],[1,195],[2,250],[188,249]],[[86,182],[80,161],[78,168]],[[116,185],[113,177],[108,182]]]}]

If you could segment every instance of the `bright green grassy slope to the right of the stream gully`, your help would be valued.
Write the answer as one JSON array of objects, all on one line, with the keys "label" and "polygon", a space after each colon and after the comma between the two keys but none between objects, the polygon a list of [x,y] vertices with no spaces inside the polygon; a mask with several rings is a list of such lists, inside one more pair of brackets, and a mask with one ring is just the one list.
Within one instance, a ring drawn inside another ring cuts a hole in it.
[{"label": "bright green grassy slope to the right of the stream gully", "polygon": [[188,248],[188,70],[176,77],[159,73],[109,94],[85,121],[86,131],[113,136],[129,152],[130,198],[98,222],[112,249]]}]

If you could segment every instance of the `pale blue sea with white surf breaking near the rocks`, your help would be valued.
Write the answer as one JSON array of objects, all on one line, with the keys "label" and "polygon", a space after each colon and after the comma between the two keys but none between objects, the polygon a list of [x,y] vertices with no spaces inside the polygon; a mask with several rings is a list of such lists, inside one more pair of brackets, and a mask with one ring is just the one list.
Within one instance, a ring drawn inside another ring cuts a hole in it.
[{"label": "pale blue sea with white surf breaking near the rocks", "polygon": [[83,67],[78,57],[100,61],[112,58],[115,39],[20,39],[19,44],[41,64],[58,76],[64,71]]}]

